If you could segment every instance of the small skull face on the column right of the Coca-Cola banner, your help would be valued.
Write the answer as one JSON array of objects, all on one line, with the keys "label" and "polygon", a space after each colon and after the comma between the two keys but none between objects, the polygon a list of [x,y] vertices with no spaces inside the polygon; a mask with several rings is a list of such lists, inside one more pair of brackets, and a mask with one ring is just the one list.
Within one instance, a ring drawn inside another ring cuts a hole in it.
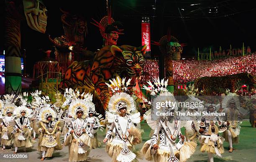
[{"label": "small skull face on the column right of the Coca-Cola banner", "polygon": [[182,46],[178,42],[168,42],[166,44],[167,55],[172,60],[180,60],[180,54],[182,53]]}]

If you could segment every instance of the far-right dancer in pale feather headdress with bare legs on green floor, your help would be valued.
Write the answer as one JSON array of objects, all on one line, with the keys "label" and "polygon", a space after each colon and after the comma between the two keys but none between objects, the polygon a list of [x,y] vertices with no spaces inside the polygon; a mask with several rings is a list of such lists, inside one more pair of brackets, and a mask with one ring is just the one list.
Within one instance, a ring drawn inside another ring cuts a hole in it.
[{"label": "far-right dancer in pale feather headdress with bare legs on green floor", "polygon": [[238,111],[240,109],[240,102],[238,96],[235,93],[228,93],[223,97],[222,108],[225,116],[223,121],[230,123],[229,127],[222,136],[225,141],[229,143],[229,152],[233,152],[233,143],[239,142],[239,134],[241,129],[241,114]]}]

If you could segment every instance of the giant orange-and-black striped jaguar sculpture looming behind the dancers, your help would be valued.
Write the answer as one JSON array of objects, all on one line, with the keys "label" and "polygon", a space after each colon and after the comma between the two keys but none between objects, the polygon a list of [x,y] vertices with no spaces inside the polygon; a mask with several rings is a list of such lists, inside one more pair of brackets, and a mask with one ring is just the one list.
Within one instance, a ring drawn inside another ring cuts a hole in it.
[{"label": "giant orange-and-black striped jaguar sculpture looming behind the dancers", "polygon": [[92,60],[74,61],[68,67],[60,87],[95,90],[103,109],[107,110],[110,94],[105,82],[109,83],[111,78],[117,76],[126,77],[126,79],[141,76],[145,53],[146,45],[141,47],[104,46],[95,53]]}]

